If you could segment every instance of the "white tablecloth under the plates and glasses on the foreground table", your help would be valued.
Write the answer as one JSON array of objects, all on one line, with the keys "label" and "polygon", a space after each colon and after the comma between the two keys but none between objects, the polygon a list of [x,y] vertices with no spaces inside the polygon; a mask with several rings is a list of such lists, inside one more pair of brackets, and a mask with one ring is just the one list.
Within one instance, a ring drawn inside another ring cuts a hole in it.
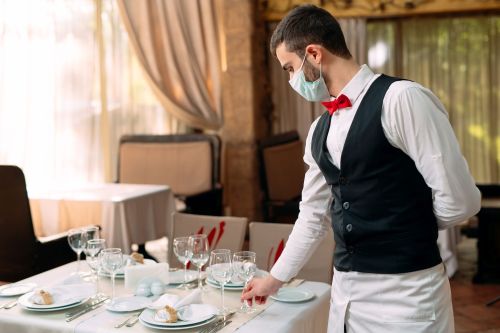
[{"label": "white tablecloth under the plates and glasses on the foreground table", "polygon": [[[51,281],[55,281],[65,276],[76,268],[75,263],[70,263],[51,271],[39,274],[26,281],[35,282],[43,286]],[[104,280],[104,282],[102,282]],[[110,282],[107,278],[101,278],[101,287],[109,293]],[[117,295],[123,295],[129,291],[123,287],[122,280],[117,280]],[[298,288],[303,288],[315,293],[316,297],[312,301],[305,303],[280,303],[274,302],[255,318],[246,322],[237,330],[239,333],[324,333],[326,332],[328,311],[330,306],[330,286],[321,282],[304,282]],[[239,291],[226,292],[226,304],[232,308],[239,305]],[[9,299],[0,298],[0,303]],[[205,303],[213,303],[220,306],[220,292],[211,288],[203,294]],[[67,311],[67,310],[66,310]],[[64,312],[31,312],[19,306],[10,310],[0,310],[0,332],[15,333],[106,333],[119,332],[113,326],[123,321],[130,314],[112,313],[100,307],[82,317],[67,323],[64,319]],[[237,316],[244,314],[236,313]],[[228,327],[229,328],[229,327]],[[133,328],[124,327],[120,330],[126,332],[155,332],[137,323]],[[182,330],[185,333],[198,332],[200,328]],[[159,331],[157,331],[159,332]],[[225,331],[224,331],[225,332]]]}]

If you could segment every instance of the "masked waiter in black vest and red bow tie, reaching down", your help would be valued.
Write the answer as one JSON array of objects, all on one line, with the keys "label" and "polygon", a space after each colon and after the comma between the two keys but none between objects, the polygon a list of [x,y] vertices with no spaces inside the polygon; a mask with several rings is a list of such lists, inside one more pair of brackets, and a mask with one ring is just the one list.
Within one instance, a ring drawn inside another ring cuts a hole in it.
[{"label": "masked waiter in black vest and red bow tie, reaching down", "polygon": [[335,18],[312,5],[279,23],[271,51],[292,88],[324,101],[327,112],[309,130],[309,168],[287,245],[242,299],[262,304],[294,277],[330,215],[328,332],[454,332],[438,229],[476,214],[481,199],[444,106],[418,83],[359,66]]}]

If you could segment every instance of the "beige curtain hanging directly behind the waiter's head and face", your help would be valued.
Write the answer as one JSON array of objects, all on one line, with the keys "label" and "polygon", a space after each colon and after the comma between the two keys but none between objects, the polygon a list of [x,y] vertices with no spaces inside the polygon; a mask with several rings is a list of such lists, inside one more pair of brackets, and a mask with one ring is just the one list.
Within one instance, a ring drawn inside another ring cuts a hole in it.
[{"label": "beige curtain hanging directly behind the waiter's head and face", "polygon": [[[352,56],[360,64],[366,61],[366,20],[339,19]],[[273,31],[276,24],[270,26]],[[320,103],[311,103],[299,96],[288,84],[288,74],[275,58],[270,58],[273,133],[297,130],[303,142],[312,122],[324,112]]]}]

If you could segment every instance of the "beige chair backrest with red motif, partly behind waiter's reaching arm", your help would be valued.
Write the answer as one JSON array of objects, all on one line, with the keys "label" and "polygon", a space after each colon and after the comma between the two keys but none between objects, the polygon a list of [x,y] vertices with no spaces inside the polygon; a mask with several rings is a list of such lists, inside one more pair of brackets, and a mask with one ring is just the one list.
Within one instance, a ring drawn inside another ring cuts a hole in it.
[{"label": "beige chair backrest with red motif, partly behind waiter's reaching arm", "polygon": [[[257,253],[257,266],[270,270],[278,260],[292,232],[293,224],[250,223],[250,251]],[[331,283],[333,274],[333,251],[335,242],[333,231],[322,240],[313,255],[309,258],[298,278]]]}]

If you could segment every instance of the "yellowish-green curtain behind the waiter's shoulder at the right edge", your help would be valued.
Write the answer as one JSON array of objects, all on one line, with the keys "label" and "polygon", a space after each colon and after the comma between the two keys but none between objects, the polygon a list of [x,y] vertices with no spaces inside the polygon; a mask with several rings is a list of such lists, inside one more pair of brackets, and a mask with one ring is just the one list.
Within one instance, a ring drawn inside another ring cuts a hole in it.
[{"label": "yellowish-green curtain behind the waiter's shoulder at the right edge", "polygon": [[403,22],[403,76],[446,106],[478,183],[500,183],[500,16]]}]

